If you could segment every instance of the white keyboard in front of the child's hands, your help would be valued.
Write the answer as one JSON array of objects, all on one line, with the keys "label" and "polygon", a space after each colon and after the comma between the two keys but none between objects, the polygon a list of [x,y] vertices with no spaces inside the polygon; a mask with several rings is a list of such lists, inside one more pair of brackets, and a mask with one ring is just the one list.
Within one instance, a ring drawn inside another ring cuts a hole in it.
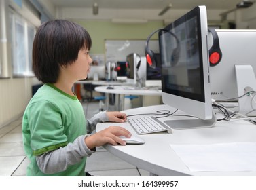
[{"label": "white keyboard in front of the child's hands", "polygon": [[155,117],[139,117],[129,119],[128,123],[134,128],[137,134],[149,134],[153,132],[168,132],[172,133],[172,129],[166,126]]}]

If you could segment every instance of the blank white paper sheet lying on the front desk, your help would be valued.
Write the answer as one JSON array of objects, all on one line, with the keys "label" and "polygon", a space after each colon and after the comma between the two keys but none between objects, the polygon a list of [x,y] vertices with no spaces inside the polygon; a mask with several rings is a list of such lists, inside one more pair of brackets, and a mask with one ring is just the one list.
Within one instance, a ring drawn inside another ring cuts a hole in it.
[{"label": "blank white paper sheet lying on the front desk", "polygon": [[256,171],[256,143],[170,145],[191,172]]}]

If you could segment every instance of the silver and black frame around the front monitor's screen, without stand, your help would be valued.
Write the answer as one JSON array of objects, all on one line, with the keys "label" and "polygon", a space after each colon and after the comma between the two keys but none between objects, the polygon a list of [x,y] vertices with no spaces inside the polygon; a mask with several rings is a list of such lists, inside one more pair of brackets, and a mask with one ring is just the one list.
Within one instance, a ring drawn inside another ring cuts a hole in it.
[{"label": "silver and black frame around the front monitor's screen, without stand", "polygon": [[[194,18],[195,16],[198,23],[198,42],[200,43],[200,45],[198,46],[198,50],[200,52],[201,93],[191,94],[189,92],[181,92],[178,90],[167,89],[166,86],[164,85],[164,77],[162,76],[162,99],[164,104],[168,104],[171,107],[181,109],[182,111],[185,111],[185,113],[195,115],[200,119],[211,119],[213,117],[213,109],[211,102],[211,86],[209,80],[207,44],[208,26],[206,7],[195,7],[193,10],[187,12],[187,14],[181,16],[181,18],[175,20],[175,22],[172,22],[171,24],[166,26],[165,29],[170,30],[174,26],[179,26],[181,22],[184,22],[189,18]],[[158,34],[160,43],[162,34],[163,33],[161,31]]]}]

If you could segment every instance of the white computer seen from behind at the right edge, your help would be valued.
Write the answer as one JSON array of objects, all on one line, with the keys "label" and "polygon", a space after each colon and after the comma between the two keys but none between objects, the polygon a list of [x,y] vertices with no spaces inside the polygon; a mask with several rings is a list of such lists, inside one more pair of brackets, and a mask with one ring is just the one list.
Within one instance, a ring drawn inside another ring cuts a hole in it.
[{"label": "white computer seen from behind at the right edge", "polygon": [[[251,107],[252,98],[250,96],[238,97],[245,93],[244,88],[248,86],[252,90],[256,90],[256,82],[249,77],[249,71],[247,71],[242,76],[244,85],[238,88],[234,65],[251,65],[253,73],[256,73],[256,30],[216,29],[215,31],[219,37],[222,58],[219,64],[210,67],[212,98],[219,102],[238,102],[239,100],[247,99],[248,102],[240,102],[238,110],[243,114],[249,113],[249,111],[253,111],[256,108],[256,104],[254,108]],[[209,47],[212,44],[213,38],[210,34],[208,37]],[[238,94],[238,91],[241,93]],[[242,111],[241,109],[245,110]],[[255,111],[253,111],[253,115],[256,115]]]}]

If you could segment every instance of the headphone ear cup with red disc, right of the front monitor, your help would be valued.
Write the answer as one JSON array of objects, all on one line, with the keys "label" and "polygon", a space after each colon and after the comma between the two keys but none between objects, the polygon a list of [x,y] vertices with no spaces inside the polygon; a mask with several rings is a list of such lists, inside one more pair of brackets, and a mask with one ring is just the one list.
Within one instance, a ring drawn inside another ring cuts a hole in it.
[{"label": "headphone ear cup with red disc, right of the front monitor", "polygon": [[222,58],[221,48],[219,47],[219,37],[215,29],[208,29],[213,36],[213,45],[209,50],[209,62],[210,66],[216,66],[219,64]]}]

